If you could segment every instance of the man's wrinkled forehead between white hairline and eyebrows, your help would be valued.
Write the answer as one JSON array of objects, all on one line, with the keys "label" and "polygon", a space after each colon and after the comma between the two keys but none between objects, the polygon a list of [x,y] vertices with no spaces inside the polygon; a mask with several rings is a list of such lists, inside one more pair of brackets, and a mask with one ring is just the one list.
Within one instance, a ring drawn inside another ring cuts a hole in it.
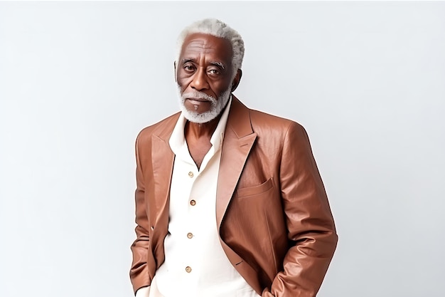
[{"label": "man's wrinkled forehead between white hairline and eyebrows", "polygon": [[181,59],[202,58],[208,56],[216,61],[230,63],[232,61],[232,44],[225,38],[210,34],[192,33],[184,39],[181,48]]}]

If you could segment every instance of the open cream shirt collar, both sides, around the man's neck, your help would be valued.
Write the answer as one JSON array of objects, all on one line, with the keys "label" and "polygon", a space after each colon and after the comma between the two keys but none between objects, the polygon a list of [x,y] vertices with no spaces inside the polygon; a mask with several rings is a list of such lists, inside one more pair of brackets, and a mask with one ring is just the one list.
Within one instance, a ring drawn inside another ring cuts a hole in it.
[{"label": "open cream shirt collar, both sides, around the man's neck", "polygon": [[[215,132],[213,132],[212,137],[210,137],[210,143],[212,144],[212,149],[215,150],[215,152],[219,150],[223,144],[225,125],[227,124],[227,119],[229,118],[230,105],[232,105],[232,95],[230,95],[229,102],[223,111],[223,115],[221,115]],[[168,144],[175,155],[178,155],[183,145],[187,145],[186,137],[184,136],[184,127],[186,127],[186,123],[187,119],[184,118],[183,113],[181,113],[175,127],[173,128],[170,140],[168,141]]]}]

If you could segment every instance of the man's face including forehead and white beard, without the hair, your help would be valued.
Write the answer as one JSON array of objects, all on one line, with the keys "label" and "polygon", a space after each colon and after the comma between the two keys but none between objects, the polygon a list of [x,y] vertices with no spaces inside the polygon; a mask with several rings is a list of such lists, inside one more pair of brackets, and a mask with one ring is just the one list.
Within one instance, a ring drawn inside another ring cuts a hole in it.
[{"label": "man's face including forehead and white beard, without the hair", "polygon": [[203,33],[186,37],[176,65],[181,110],[194,123],[216,118],[232,88],[230,41]]}]

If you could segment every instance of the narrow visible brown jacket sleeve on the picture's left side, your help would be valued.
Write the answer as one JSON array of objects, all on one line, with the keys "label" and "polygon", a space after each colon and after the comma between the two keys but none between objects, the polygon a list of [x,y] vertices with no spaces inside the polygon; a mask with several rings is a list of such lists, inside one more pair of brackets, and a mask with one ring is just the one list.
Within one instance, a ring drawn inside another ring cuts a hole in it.
[{"label": "narrow visible brown jacket sleeve on the picture's left side", "polygon": [[149,286],[151,279],[147,266],[147,255],[149,250],[149,219],[145,203],[145,182],[139,154],[139,137],[136,140],[136,240],[132,244],[132,268],[130,269],[130,280],[133,290],[136,291],[144,286]]}]

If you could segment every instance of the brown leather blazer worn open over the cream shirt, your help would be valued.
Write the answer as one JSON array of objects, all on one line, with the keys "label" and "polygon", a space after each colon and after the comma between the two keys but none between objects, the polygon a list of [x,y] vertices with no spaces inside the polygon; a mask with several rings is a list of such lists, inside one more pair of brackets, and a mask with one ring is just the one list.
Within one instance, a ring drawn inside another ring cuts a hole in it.
[{"label": "brown leather blazer worn open over the cream shirt", "polygon": [[[178,113],[136,140],[134,291],[164,261]],[[301,125],[250,110],[233,97],[222,148],[216,218],[227,258],[262,296],[316,296],[337,234],[309,138]]]}]

